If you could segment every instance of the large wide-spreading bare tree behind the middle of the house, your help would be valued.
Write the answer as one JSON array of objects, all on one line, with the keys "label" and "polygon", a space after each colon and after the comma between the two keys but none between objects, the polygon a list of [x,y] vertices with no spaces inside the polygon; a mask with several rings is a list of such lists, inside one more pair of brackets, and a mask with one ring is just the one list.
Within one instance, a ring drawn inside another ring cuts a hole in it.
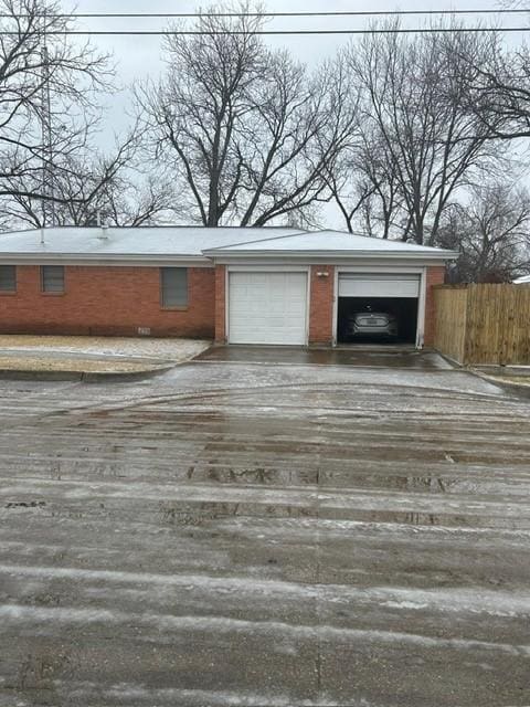
[{"label": "large wide-spreading bare tree behind the middle of the house", "polygon": [[352,123],[346,74],[309,76],[264,45],[263,17],[237,11],[211,9],[198,20],[203,34],[171,35],[165,80],[138,91],[157,158],[208,226],[263,225],[329,199],[322,172]]}]

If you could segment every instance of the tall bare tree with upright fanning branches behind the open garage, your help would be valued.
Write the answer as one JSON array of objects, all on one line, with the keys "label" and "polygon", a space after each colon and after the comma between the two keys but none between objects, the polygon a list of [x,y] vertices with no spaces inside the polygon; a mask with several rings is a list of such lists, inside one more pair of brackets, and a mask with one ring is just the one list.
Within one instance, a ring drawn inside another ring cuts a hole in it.
[{"label": "tall bare tree with upright fanning branches behind the open garage", "polygon": [[433,240],[454,192],[496,156],[489,126],[463,105],[473,81],[463,57],[478,65],[489,51],[480,32],[370,34],[350,46],[347,64],[362,95],[363,123],[384,146],[403,202],[403,239]]}]

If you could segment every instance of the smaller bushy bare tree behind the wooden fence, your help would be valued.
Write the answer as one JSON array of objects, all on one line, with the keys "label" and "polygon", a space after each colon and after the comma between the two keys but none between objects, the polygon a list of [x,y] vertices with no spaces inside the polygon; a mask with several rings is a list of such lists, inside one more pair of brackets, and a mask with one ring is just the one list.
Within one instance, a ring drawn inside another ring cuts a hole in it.
[{"label": "smaller bushy bare tree behind the wooden fence", "polygon": [[452,204],[436,244],[460,251],[455,282],[508,282],[530,272],[530,194],[494,182]]}]

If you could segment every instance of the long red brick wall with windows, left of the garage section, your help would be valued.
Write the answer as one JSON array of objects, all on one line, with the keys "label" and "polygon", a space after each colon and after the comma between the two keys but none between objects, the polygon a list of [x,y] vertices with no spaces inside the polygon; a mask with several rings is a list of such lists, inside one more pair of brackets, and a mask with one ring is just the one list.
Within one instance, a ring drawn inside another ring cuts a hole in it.
[{"label": "long red brick wall with windows, left of the garage section", "polygon": [[3,334],[151,336],[213,338],[215,273],[188,270],[188,307],[160,305],[158,267],[65,266],[65,293],[42,294],[40,268],[17,267],[17,294],[0,293]]}]

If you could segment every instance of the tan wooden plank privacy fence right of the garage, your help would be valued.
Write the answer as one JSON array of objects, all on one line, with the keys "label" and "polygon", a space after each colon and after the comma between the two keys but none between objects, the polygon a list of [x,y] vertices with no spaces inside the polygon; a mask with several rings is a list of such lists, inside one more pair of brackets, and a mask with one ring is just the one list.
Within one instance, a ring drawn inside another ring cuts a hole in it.
[{"label": "tan wooden plank privacy fence right of the garage", "polygon": [[435,348],[464,366],[530,365],[530,285],[434,288]]}]

